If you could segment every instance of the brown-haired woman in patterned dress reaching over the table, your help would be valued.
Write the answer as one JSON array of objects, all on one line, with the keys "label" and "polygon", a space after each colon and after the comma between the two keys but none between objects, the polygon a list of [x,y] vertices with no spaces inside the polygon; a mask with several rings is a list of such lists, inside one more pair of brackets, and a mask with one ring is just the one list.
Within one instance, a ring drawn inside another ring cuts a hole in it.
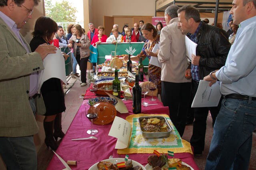
[{"label": "brown-haired woman in patterned dress reaching over the table", "polygon": [[[154,46],[159,43],[159,35],[157,34],[156,28],[152,24],[146,23],[142,26],[141,32],[147,40],[142,47],[141,52],[138,55],[131,57],[131,60],[133,61],[139,61],[140,58],[144,60],[148,57],[150,60],[151,57],[157,57],[156,53],[152,52]],[[128,60],[128,57],[124,57],[124,59]],[[149,81],[153,81],[157,84],[158,94],[161,94],[161,67],[148,64],[148,78]]]}]

